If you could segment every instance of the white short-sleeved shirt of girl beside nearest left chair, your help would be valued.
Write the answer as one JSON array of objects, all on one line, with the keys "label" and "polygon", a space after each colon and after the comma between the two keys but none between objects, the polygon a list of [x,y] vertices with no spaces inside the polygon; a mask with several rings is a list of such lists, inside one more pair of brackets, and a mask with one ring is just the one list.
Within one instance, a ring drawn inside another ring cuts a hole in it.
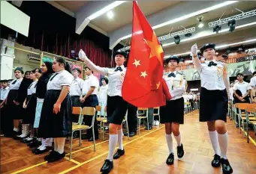
[{"label": "white short-sleeved shirt of girl beside nearest left chair", "polygon": [[49,79],[47,90],[62,90],[62,86],[71,86],[74,77],[66,70],[55,72]]}]

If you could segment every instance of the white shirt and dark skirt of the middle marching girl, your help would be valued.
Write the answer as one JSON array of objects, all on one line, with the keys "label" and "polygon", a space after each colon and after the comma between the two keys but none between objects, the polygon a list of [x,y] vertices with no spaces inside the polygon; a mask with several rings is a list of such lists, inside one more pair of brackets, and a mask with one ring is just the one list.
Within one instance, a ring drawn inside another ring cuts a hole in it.
[{"label": "white shirt and dark skirt of the middle marching girl", "polygon": [[177,122],[184,123],[184,99],[185,79],[180,72],[167,72],[163,78],[167,83],[172,99],[160,107],[161,123]]}]

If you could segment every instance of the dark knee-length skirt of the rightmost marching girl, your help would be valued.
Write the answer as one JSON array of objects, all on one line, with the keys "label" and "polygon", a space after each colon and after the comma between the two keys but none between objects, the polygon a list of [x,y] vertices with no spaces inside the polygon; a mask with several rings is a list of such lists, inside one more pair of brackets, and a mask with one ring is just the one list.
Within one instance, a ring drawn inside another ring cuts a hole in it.
[{"label": "dark knee-length skirt of the rightmost marching girl", "polygon": [[227,103],[227,90],[206,90],[201,87],[199,121],[223,120],[227,122]]}]

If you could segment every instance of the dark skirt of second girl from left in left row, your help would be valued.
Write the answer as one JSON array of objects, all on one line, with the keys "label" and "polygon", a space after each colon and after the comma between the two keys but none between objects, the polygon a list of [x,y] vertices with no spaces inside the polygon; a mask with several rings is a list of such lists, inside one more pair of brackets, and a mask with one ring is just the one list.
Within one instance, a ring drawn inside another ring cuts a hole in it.
[{"label": "dark skirt of second girl from left in left row", "polygon": [[27,108],[25,109],[25,115],[23,118],[23,124],[34,125],[35,121],[35,108],[37,107],[37,96],[34,94],[27,96],[26,98]]}]

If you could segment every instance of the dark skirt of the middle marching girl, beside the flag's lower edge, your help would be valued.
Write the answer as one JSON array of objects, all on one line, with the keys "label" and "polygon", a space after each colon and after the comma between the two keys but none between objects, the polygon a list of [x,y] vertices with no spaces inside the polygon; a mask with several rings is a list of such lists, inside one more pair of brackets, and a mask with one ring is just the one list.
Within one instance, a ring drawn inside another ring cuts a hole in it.
[{"label": "dark skirt of the middle marching girl, beside the flag's lower edge", "polygon": [[176,122],[184,124],[184,99],[183,97],[166,102],[160,107],[161,123]]}]

